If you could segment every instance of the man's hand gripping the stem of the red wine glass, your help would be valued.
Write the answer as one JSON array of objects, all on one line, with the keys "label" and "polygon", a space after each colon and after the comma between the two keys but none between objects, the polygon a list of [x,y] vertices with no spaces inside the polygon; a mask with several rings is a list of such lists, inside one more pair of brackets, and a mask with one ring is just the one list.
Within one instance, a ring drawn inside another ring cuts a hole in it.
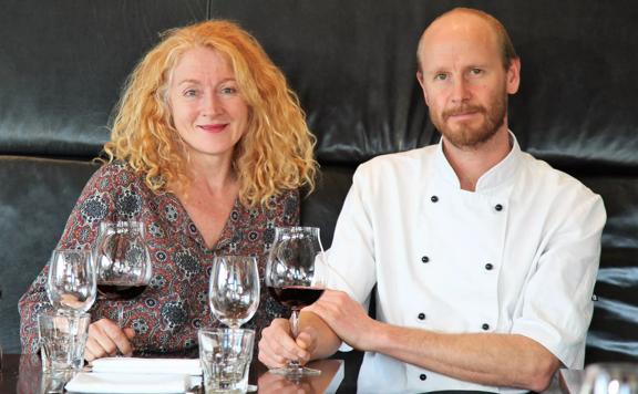
[{"label": "man's hand gripping the stem of the red wine glass", "polygon": [[306,364],[316,348],[317,331],[313,328],[302,326],[297,340],[294,340],[288,320],[275,319],[261,332],[259,361],[268,367],[286,366],[289,360]]}]

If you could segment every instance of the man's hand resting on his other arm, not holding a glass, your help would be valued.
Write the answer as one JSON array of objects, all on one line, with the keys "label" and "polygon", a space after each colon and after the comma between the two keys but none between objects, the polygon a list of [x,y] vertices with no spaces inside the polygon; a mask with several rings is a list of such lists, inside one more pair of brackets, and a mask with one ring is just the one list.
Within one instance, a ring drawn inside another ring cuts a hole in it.
[{"label": "man's hand resting on his other arm, not holding a glass", "polygon": [[308,311],[323,319],[343,342],[358,350],[370,349],[374,332],[381,324],[342,291],[323,291],[319,301],[309,307]]}]

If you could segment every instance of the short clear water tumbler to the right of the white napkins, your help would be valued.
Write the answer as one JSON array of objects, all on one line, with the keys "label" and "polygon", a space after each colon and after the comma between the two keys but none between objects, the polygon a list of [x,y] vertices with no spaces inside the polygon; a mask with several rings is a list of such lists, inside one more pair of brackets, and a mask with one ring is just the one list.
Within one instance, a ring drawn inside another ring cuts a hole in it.
[{"label": "short clear water tumbler to the right of the white napkins", "polygon": [[255,331],[199,330],[198,338],[206,394],[246,393]]}]

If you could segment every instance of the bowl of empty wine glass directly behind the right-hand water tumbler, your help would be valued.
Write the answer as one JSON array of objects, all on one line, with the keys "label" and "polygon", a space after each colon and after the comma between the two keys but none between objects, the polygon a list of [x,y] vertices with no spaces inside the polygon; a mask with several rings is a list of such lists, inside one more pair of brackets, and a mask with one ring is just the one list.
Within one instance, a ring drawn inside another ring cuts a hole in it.
[{"label": "bowl of empty wine glass directly behind the right-hand water tumbler", "polygon": [[222,323],[239,329],[253,318],[259,305],[257,258],[217,256],[208,286],[210,310]]}]

